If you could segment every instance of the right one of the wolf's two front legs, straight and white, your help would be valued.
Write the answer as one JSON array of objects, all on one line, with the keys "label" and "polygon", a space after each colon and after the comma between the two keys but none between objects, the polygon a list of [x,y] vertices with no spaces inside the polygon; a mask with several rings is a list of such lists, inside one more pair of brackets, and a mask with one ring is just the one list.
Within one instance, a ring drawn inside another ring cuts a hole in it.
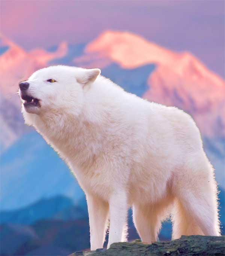
[{"label": "right one of the wolf's two front legs, straight and white", "polygon": [[107,249],[115,242],[126,241],[127,197],[125,192],[113,194],[109,201],[110,233]]}]

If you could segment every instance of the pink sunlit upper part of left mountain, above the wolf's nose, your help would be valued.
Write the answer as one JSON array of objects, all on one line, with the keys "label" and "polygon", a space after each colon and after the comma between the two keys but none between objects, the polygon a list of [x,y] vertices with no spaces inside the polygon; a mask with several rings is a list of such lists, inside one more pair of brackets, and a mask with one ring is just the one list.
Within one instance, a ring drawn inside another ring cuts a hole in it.
[{"label": "pink sunlit upper part of left mountain, above the wolf's nose", "polygon": [[37,69],[48,66],[48,62],[52,59],[65,56],[68,51],[68,44],[62,42],[55,52],[47,52],[39,48],[27,53],[3,35],[1,45],[8,47],[0,55],[0,88],[5,95],[16,93],[18,82],[27,79]]}]

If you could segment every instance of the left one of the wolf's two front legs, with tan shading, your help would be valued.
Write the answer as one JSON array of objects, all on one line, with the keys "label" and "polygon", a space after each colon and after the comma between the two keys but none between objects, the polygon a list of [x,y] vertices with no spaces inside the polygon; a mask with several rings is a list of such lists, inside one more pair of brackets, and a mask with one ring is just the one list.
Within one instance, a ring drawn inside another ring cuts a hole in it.
[{"label": "left one of the wolf's two front legs, with tan shading", "polygon": [[94,195],[86,195],[90,225],[91,250],[102,248],[108,221],[108,203]]}]

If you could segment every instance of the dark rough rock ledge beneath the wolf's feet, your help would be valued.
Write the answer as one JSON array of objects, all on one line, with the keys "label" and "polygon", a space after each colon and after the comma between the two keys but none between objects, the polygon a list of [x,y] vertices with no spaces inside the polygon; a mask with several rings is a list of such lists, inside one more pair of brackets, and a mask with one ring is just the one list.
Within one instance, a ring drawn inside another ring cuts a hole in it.
[{"label": "dark rough rock ledge beneath the wolf's feet", "polygon": [[169,242],[143,244],[139,240],[133,242],[114,243],[108,250],[79,251],[70,256],[224,256],[225,236],[181,236]]}]

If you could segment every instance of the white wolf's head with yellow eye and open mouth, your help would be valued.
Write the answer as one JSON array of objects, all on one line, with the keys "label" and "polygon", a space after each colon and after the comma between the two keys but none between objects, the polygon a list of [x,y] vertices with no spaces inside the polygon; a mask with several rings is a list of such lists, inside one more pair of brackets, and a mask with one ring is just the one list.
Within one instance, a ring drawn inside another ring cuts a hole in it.
[{"label": "white wolf's head with yellow eye and open mouth", "polygon": [[31,115],[58,114],[71,108],[74,114],[79,114],[86,85],[93,83],[100,73],[100,69],[68,66],[37,70],[27,81],[19,84],[25,122]]}]

